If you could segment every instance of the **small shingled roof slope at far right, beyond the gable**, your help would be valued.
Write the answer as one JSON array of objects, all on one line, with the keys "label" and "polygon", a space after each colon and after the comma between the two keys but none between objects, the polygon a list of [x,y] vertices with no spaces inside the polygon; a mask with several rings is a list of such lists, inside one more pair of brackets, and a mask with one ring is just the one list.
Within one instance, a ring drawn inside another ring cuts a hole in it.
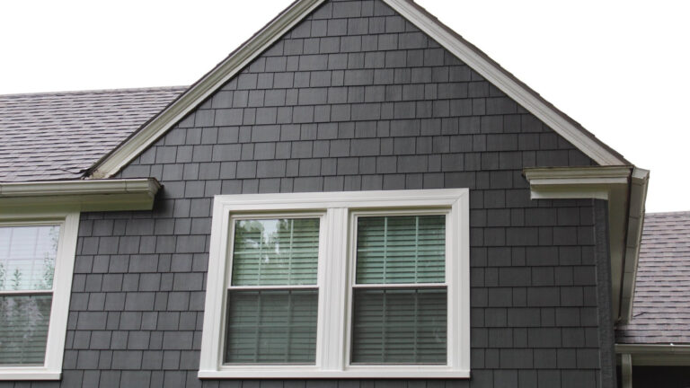
[{"label": "small shingled roof slope at far right, beyond the gable", "polygon": [[645,216],[632,320],[616,337],[618,343],[690,343],[690,211]]}]

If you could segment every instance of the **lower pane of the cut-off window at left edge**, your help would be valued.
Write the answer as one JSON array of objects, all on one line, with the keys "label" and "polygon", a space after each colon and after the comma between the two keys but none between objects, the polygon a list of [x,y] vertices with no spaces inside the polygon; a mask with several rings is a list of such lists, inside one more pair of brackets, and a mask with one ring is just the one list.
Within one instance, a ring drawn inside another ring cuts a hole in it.
[{"label": "lower pane of the cut-off window at left edge", "polygon": [[0,296],[0,365],[43,364],[52,299]]}]

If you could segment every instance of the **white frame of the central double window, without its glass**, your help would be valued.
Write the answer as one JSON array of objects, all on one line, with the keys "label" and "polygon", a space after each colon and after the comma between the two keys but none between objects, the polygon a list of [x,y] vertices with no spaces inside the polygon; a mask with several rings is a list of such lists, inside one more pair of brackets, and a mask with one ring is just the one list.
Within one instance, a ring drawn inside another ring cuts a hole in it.
[{"label": "white frame of the central double window, without its glass", "polygon": [[[350,365],[349,324],[354,280],[352,223],[361,212],[395,216],[447,212],[447,363]],[[223,365],[224,316],[234,215],[323,213],[320,223],[319,315],[314,365]],[[470,376],[469,190],[385,190],[217,195],[208,260],[199,378],[468,378]],[[323,242],[322,242],[323,241]],[[328,260],[322,260],[327,257]],[[324,287],[327,285],[327,287]]]}]

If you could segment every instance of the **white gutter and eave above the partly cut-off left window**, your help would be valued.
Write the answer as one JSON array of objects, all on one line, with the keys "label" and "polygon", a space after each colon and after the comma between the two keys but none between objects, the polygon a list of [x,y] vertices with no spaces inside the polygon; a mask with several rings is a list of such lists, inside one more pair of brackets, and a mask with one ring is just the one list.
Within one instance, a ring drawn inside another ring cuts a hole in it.
[{"label": "white gutter and eave above the partly cut-off left window", "polygon": [[29,181],[0,184],[3,213],[37,207],[81,211],[150,210],[161,184],[153,178],[91,181]]}]

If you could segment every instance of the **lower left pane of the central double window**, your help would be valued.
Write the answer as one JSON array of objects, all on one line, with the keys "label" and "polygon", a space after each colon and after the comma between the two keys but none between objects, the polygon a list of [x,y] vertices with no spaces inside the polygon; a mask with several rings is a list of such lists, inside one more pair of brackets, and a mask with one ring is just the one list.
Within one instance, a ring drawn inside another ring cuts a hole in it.
[{"label": "lower left pane of the central double window", "polygon": [[228,291],[226,363],[314,363],[316,290]]}]

